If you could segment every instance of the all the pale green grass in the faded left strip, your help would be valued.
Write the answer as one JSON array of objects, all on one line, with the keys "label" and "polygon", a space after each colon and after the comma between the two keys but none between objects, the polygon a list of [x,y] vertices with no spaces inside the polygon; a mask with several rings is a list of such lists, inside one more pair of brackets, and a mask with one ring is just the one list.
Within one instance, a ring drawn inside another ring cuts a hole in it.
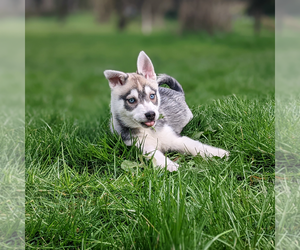
[{"label": "all the pale green grass in the faded left strip", "polygon": [[1,18],[0,249],[25,247],[25,44],[22,28],[24,31],[22,19]]}]

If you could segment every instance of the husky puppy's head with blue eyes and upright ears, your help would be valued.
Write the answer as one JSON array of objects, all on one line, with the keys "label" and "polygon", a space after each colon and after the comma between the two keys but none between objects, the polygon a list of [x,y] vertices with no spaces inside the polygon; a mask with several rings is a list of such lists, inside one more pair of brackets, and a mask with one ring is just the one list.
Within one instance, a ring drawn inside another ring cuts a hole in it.
[{"label": "husky puppy's head with blue eyes and upright ears", "polygon": [[159,118],[160,96],[150,58],[141,51],[137,73],[105,70],[111,88],[112,115],[130,128],[153,127]]}]

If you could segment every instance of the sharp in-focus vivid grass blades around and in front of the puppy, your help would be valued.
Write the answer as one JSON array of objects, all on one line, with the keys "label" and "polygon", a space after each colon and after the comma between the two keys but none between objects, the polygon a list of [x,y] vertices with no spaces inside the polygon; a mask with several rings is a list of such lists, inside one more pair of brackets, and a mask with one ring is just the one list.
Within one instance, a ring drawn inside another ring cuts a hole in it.
[{"label": "sharp in-focus vivid grass blades around and in front of the puppy", "polygon": [[[137,148],[111,135],[107,121],[57,116],[45,124],[31,117],[26,142],[28,244],[272,249],[273,101],[233,97],[194,114],[184,133],[230,150],[231,157],[171,154],[181,166],[172,174],[154,169]],[[139,167],[124,171],[120,166],[125,160]]]}]

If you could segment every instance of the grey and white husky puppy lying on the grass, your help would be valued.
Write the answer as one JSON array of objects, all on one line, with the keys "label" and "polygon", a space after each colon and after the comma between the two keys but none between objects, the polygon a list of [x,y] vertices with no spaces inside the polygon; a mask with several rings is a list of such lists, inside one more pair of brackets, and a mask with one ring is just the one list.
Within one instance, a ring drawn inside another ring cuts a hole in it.
[{"label": "grey and white husky puppy lying on the grass", "polygon": [[111,131],[117,132],[128,146],[136,139],[137,146],[153,157],[157,166],[167,167],[170,172],[178,170],[179,165],[165,157],[168,151],[202,157],[229,156],[226,150],[180,135],[193,118],[183,88],[173,77],[156,76],[144,51],[139,53],[136,73],[105,70],[104,75],[111,89]]}]

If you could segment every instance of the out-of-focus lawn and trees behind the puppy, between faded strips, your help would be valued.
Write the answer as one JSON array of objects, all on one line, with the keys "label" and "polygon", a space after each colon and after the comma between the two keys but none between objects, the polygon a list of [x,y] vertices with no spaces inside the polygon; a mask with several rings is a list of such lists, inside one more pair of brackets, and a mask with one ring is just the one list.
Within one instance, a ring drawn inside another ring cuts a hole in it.
[{"label": "out-of-focus lawn and trees behind the puppy, between faded strips", "polygon": [[27,0],[27,115],[45,110],[108,115],[103,71],[135,72],[141,50],[157,74],[183,85],[189,105],[232,94],[272,94],[274,5],[274,0]]}]

